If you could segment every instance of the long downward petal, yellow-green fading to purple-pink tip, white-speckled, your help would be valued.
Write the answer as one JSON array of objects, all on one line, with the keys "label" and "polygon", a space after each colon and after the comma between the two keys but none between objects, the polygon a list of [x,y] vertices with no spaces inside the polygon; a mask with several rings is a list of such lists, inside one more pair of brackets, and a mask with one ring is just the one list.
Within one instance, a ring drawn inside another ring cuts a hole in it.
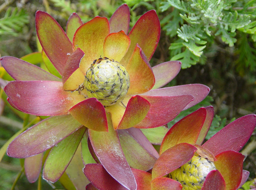
[{"label": "long downward petal, yellow-green fading to purple-pink tip, white-speckled", "polygon": [[110,114],[108,114],[108,132],[98,132],[89,129],[89,137],[95,154],[107,172],[120,184],[128,189],[136,189],[136,181],[127,163],[117,131],[113,129]]}]

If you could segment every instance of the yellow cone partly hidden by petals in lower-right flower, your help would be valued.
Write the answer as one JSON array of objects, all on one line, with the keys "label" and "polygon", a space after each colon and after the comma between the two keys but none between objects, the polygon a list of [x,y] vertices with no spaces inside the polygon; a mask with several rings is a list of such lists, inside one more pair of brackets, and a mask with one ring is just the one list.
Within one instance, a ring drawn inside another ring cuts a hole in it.
[{"label": "yellow cone partly hidden by petals in lower-right flower", "polygon": [[207,174],[216,170],[213,162],[201,156],[193,156],[192,159],[180,168],[170,173],[170,178],[179,181],[182,190],[201,189]]}]

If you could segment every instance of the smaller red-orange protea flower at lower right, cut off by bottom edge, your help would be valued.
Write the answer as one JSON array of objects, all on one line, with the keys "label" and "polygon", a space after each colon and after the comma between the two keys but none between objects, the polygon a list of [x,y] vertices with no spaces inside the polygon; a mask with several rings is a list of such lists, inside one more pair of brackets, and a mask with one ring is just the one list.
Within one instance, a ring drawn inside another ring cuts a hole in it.
[{"label": "smaller red-orange protea flower at lower right, cut off by bottom edge", "polygon": [[[254,130],[256,115],[236,119],[201,146],[213,115],[212,106],[208,106],[173,125],[164,136],[152,174],[132,169],[138,189],[236,190],[242,186],[249,172],[243,170],[244,155],[238,151]],[[92,183],[88,189],[111,187],[99,179],[124,188],[100,164],[87,164],[84,174]]]}]

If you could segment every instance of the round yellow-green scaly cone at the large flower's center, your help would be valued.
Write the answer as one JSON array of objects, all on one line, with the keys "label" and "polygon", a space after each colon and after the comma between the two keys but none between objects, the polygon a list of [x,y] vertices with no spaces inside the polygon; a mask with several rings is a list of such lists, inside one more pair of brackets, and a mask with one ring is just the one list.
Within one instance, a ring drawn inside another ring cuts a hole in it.
[{"label": "round yellow-green scaly cone at the large flower's center", "polygon": [[129,86],[130,77],[124,66],[108,57],[94,60],[84,80],[88,97],[97,98],[104,106],[121,102]]}]

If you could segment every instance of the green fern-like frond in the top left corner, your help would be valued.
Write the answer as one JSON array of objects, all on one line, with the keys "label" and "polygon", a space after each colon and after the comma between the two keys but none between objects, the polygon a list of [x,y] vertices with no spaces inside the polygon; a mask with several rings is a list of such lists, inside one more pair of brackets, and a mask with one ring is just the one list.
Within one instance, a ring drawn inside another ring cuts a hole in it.
[{"label": "green fern-like frond in the top left corner", "polygon": [[22,27],[28,23],[28,14],[18,8],[7,9],[4,18],[0,19],[0,35],[11,34],[17,36]]}]

